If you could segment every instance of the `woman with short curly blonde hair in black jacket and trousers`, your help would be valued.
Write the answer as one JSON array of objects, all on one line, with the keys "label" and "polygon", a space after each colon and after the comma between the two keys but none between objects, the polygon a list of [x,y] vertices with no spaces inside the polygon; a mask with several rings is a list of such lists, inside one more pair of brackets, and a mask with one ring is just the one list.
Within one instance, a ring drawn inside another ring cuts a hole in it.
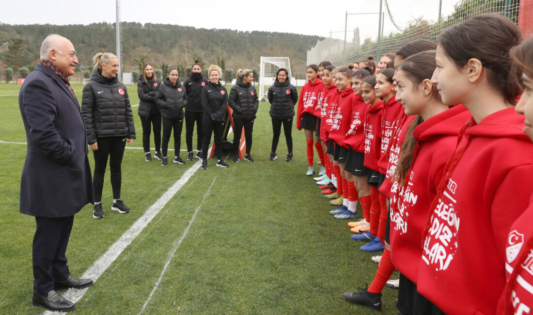
[{"label": "woman with short curly blonde hair in black jacket and trousers", "polygon": [[226,107],[228,105],[228,91],[220,84],[222,69],[216,64],[209,66],[207,71],[209,82],[201,90],[201,104],[204,108],[204,141],[202,142],[202,169],[207,169],[207,149],[211,142],[211,134],[215,139],[216,166],[229,167],[222,159],[222,131],[226,123]]}]

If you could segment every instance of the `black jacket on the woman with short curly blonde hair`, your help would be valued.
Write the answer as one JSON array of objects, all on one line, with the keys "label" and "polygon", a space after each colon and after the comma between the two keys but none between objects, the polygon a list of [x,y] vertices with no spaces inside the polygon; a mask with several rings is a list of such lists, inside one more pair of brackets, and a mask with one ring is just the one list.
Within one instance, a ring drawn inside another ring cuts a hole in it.
[{"label": "black jacket on the woman with short curly blonde hair", "polygon": [[226,121],[228,107],[228,91],[222,84],[209,81],[201,90],[201,104],[204,108],[204,120],[213,119],[215,122]]}]

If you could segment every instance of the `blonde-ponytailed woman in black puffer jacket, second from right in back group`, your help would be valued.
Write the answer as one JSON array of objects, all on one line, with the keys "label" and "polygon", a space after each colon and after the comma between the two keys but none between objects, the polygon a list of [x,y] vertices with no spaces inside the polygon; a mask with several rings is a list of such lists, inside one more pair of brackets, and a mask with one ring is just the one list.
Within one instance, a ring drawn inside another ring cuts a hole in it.
[{"label": "blonde-ponytailed woman in black puffer jacket, second from right in back group", "polygon": [[232,162],[239,161],[239,143],[240,136],[244,127],[244,136],[246,137],[246,155],[244,159],[253,162],[250,155],[252,150],[252,132],[254,130],[254,119],[259,107],[259,98],[254,82],[254,74],[250,69],[239,69],[237,71],[237,83],[233,85],[228,98],[229,106],[233,109],[233,151],[235,157]]}]

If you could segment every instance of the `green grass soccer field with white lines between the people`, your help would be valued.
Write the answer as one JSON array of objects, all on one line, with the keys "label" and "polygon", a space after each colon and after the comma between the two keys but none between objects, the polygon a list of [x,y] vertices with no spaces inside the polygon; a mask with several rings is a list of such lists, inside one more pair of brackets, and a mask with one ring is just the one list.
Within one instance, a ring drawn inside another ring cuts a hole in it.
[{"label": "green grass soccer field with white lines between the people", "polygon": [[[82,86],[72,87],[81,103]],[[19,88],[0,85],[0,312],[38,314],[43,309],[31,305],[35,219],[19,213],[26,156]],[[127,88],[131,104],[139,104],[136,86]],[[370,257],[376,253],[359,251],[364,243],[350,238],[348,221],[329,214],[334,207],[312,176],[305,176],[305,136],[295,125],[290,163],[285,161],[283,134],[278,159],[268,160],[270,104],[260,102],[254,163],[233,164],[232,155],[226,154],[229,168],[216,167],[214,159],[207,170],[199,169],[198,159],[162,167],[158,160],[144,161],[137,109],[133,107],[137,139],[126,146],[122,163],[122,199],[132,211],[110,210],[108,169],[102,197],[105,217],[93,219],[92,205],[75,216],[67,249],[70,273],[98,277],[89,289],[60,292],[79,298],[76,313],[375,312],[342,297],[345,291],[370,284],[377,269]],[[185,130],[181,143],[184,150]],[[196,146],[196,135],[193,143]],[[185,159],[185,151],[181,157]],[[318,171],[317,161],[315,157]],[[397,312],[396,297],[397,290],[384,288],[383,314]]]}]

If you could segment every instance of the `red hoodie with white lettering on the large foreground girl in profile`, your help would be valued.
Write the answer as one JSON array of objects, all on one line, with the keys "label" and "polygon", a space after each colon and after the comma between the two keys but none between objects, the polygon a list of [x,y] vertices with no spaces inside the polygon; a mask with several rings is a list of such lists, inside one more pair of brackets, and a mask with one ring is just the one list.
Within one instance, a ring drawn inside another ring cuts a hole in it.
[{"label": "red hoodie with white lettering on the large foreground girl in profile", "polygon": [[533,191],[524,117],[500,110],[459,133],[422,239],[418,292],[442,311],[493,314],[505,286],[508,231]]}]

